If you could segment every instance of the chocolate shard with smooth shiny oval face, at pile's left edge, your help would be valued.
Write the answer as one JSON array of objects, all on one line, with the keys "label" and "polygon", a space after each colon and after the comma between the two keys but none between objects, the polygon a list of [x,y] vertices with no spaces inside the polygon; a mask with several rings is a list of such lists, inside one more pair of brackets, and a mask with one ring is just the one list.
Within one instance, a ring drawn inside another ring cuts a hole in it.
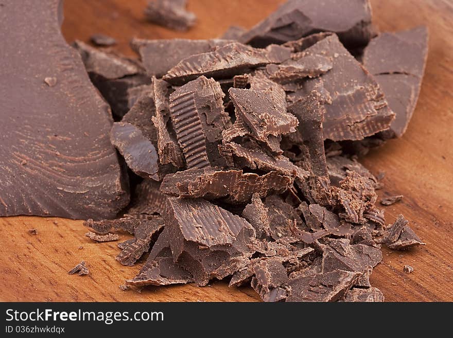
[{"label": "chocolate shard with smooth shiny oval face, at pile's left edge", "polygon": [[151,88],[135,102],[121,122],[113,123],[112,144],[123,155],[128,167],[137,175],[155,181],[171,172],[171,165],[161,165],[156,151],[157,130],[151,122],[155,104]]}]

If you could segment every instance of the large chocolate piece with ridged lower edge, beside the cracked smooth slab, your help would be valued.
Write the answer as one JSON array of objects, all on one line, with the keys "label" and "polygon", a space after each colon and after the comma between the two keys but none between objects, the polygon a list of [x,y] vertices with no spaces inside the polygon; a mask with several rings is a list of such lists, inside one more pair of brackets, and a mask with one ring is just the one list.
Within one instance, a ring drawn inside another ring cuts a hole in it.
[{"label": "large chocolate piece with ridged lower edge, beside the cracked smooth slab", "polygon": [[379,85],[343,47],[337,35],[329,35],[301,53],[327,57],[333,63],[329,72],[303,82],[305,95],[311,88],[316,88],[322,96],[328,94],[326,102],[329,104],[324,105],[324,138],[360,140],[389,128],[395,114]]}]

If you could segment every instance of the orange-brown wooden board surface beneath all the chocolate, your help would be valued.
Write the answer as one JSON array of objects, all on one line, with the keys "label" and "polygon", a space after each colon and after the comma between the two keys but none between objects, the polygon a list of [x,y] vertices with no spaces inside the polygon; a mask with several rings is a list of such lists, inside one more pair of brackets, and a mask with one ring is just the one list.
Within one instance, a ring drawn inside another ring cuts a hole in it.
[{"label": "orange-brown wooden board surface beneath all the chocolate", "polygon": [[[189,0],[199,18],[185,33],[147,24],[146,1],[66,0],[63,32],[68,41],[87,41],[93,33],[118,40],[118,49],[132,55],[130,38],[214,38],[229,25],[251,27],[272,12],[277,0]],[[385,171],[382,194],[403,194],[386,207],[387,221],[404,214],[427,243],[407,252],[384,249],[384,260],[371,277],[389,301],[453,301],[453,3],[448,0],[373,0],[374,21],[381,30],[426,24],[429,57],[419,103],[403,138],[371,152],[361,161],[373,173]],[[28,229],[36,228],[37,235]],[[84,237],[81,221],[56,218],[0,219],[0,300],[3,301],[252,301],[249,288],[212,286],[149,287],[138,293],[118,286],[135,275],[115,261],[116,242],[93,243]],[[128,238],[122,234],[120,240]],[[79,248],[83,246],[83,248]],[[67,271],[81,260],[87,276]],[[403,272],[403,265],[414,268]],[[140,265],[140,264],[139,264]]]}]

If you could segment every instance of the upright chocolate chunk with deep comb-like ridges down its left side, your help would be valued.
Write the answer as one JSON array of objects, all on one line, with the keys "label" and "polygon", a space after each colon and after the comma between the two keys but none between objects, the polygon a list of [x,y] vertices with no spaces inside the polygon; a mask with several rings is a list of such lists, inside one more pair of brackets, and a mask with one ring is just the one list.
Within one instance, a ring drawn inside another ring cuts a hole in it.
[{"label": "upright chocolate chunk with deep comb-like ridges down its left side", "polygon": [[220,84],[200,76],[170,95],[170,117],[187,168],[223,166],[218,145],[231,124],[223,109]]}]

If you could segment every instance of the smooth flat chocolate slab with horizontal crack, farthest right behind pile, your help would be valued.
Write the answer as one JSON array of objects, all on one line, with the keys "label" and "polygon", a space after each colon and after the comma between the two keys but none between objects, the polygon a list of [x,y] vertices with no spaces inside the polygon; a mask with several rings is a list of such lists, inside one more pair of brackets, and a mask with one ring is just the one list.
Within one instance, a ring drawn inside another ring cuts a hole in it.
[{"label": "smooth flat chocolate slab with horizontal crack, farthest right behind pile", "polygon": [[373,74],[396,117],[385,138],[401,137],[419,98],[428,55],[428,29],[419,26],[381,33],[363,51],[363,65]]}]

